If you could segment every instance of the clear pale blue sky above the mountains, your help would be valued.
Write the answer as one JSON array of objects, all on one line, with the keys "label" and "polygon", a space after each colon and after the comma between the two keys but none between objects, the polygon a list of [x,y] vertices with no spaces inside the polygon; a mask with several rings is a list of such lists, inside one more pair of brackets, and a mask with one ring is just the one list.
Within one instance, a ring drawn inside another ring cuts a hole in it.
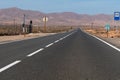
[{"label": "clear pale blue sky above the mountains", "polygon": [[0,9],[18,7],[45,13],[113,14],[120,11],[119,0],[0,0]]}]

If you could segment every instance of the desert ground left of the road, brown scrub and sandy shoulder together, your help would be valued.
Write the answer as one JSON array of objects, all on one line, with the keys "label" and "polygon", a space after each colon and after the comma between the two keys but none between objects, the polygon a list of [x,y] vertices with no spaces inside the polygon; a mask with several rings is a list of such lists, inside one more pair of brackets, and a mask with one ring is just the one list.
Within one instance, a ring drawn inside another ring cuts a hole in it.
[{"label": "desert ground left of the road, brown scrub and sandy shoulder together", "polygon": [[72,30],[71,26],[47,27],[46,32],[44,27],[33,27],[32,33],[22,33],[22,27],[19,25],[16,27],[4,25],[0,26],[0,43],[48,36],[70,30]]}]

